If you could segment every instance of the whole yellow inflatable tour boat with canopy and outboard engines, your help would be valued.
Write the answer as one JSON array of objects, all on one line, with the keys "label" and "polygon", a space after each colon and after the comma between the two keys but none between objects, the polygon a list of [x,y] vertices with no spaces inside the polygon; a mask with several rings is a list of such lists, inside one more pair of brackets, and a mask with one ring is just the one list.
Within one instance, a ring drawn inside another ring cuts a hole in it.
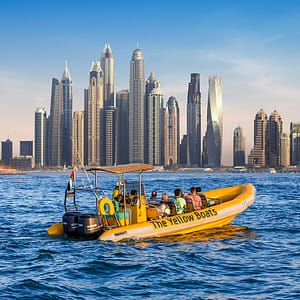
[{"label": "whole yellow inflatable tour boat with canopy and outboard engines", "polygon": [[[99,171],[118,175],[114,199],[98,195],[98,189],[93,188],[95,213],[79,212],[75,194],[80,187],[68,184],[62,222],[52,225],[48,234],[109,241],[179,235],[227,225],[255,201],[254,186],[243,184],[203,192],[202,209],[188,207],[177,214],[172,200],[168,203],[147,201],[141,174],[153,168],[147,164],[131,164],[89,169],[95,175],[95,182]],[[137,172],[138,180],[127,182],[125,174],[128,172]],[[72,205],[67,205],[70,197]]]}]

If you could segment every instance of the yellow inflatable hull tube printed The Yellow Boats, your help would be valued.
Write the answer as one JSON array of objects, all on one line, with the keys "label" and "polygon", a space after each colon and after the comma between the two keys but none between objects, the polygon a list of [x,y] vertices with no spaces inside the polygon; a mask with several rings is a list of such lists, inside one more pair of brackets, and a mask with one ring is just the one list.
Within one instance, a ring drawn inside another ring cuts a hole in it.
[{"label": "yellow inflatable hull tube printed The Yellow Boats", "polygon": [[119,241],[162,237],[221,227],[232,222],[238,214],[254,202],[256,191],[253,185],[245,184],[213,190],[204,194],[208,198],[219,199],[221,203],[181,215],[116,227],[104,231],[99,239]]}]

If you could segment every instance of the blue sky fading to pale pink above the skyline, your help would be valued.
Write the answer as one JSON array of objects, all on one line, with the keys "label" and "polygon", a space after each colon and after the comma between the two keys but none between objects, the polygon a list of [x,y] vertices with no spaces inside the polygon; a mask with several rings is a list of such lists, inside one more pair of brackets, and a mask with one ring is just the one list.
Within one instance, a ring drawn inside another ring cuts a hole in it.
[{"label": "blue sky fading to pale pink above the skyline", "polygon": [[[50,112],[51,80],[67,61],[74,110],[83,110],[89,70],[109,43],[115,93],[129,87],[134,49],[144,53],[145,77],[154,72],[164,101],[179,102],[186,132],[187,89],[200,73],[202,136],[206,130],[208,77],[222,78],[223,155],[232,165],[233,130],[253,147],[253,122],[261,108],[277,110],[284,132],[300,122],[300,1],[2,1],[0,4],[0,140],[34,140],[34,112]],[[0,149],[1,151],[1,149]]]}]

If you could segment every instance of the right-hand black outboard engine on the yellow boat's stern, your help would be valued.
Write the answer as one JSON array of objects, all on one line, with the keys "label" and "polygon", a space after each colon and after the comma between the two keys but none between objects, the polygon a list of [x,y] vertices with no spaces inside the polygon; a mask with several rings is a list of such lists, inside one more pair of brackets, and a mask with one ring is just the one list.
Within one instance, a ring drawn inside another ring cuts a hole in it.
[{"label": "right-hand black outboard engine on the yellow boat's stern", "polygon": [[102,231],[100,217],[96,214],[81,214],[78,217],[78,233],[85,239],[96,239]]}]

